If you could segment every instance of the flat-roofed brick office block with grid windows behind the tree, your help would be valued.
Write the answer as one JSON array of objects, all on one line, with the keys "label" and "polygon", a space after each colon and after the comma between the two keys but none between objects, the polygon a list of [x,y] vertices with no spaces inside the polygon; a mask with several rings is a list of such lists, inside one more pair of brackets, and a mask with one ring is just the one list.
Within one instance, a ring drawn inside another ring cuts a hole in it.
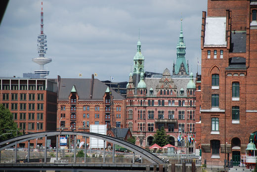
[{"label": "flat-roofed brick office block with grid windows behind the tree", "polygon": [[[13,114],[20,132],[56,129],[57,83],[49,79],[0,78],[0,103]],[[13,131],[15,132],[15,131]],[[55,137],[49,137],[55,145]],[[44,138],[31,140],[32,148],[44,146]],[[19,147],[28,147],[28,142]]]}]

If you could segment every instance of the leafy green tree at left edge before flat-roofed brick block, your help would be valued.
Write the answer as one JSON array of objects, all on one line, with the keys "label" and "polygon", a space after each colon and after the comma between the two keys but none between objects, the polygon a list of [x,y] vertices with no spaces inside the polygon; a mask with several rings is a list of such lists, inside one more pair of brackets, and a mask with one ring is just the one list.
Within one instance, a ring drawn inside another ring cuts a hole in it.
[{"label": "leafy green tree at left edge before flat-roofed brick block", "polygon": [[[0,141],[16,136],[17,124],[12,119],[9,109],[0,103]],[[10,134],[7,134],[10,133]],[[3,135],[2,135],[3,134]],[[18,129],[19,134],[19,129]]]}]

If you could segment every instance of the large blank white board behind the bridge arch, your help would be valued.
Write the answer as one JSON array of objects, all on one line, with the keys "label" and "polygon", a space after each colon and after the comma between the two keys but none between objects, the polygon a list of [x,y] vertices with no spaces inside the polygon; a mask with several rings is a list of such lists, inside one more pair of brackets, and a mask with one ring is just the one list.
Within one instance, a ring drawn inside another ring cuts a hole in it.
[{"label": "large blank white board behind the bridge arch", "polygon": [[[106,135],[107,125],[90,125],[90,132]],[[90,148],[103,148],[103,140],[90,137]],[[106,142],[105,142],[106,147]]]}]

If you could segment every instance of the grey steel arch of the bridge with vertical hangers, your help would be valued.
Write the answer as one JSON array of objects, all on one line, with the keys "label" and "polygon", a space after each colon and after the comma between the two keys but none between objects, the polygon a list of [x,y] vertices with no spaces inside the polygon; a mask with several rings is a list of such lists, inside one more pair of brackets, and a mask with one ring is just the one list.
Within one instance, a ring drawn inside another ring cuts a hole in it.
[{"label": "grey steel arch of the bridge with vertical hangers", "polygon": [[[145,150],[139,146],[136,146],[135,144],[130,143],[128,141],[121,140],[116,137],[103,135],[103,134],[97,134],[97,133],[92,133],[92,132],[81,132],[81,131],[43,131],[43,132],[25,134],[25,135],[13,137],[13,138],[10,138],[10,139],[0,142],[0,151],[4,150],[10,146],[15,145],[15,159],[16,159],[18,143],[22,143],[25,141],[29,141],[29,140],[33,140],[33,139],[41,138],[41,137],[59,136],[59,135],[75,135],[75,137],[76,137],[76,135],[81,135],[81,136],[85,136],[85,137],[98,138],[98,139],[101,139],[104,141],[111,142],[113,144],[123,146],[123,147],[129,149],[130,151],[132,151],[133,153],[140,155],[142,158],[148,160],[150,163],[152,163],[154,165],[164,164],[164,162],[156,155],[154,155],[154,154],[148,152],[147,150]],[[57,141],[56,144],[58,145],[58,139],[56,139],[56,141]],[[46,145],[46,138],[45,138],[45,145]],[[58,148],[58,146],[57,146],[57,148]],[[105,148],[105,144],[104,144],[104,148]],[[76,151],[76,147],[75,147],[75,151]],[[57,150],[57,152],[58,152],[58,150]],[[104,151],[104,153],[105,153],[105,151]],[[76,154],[74,154],[74,155],[75,155],[74,156],[74,160],[75,160],[74,163],[75,163],[76,162]],[[56,156],[56,157],[58,159],[58,156]],[[45,149],[44,159],[46,159],[46,149]],[[45,161],[45,163],[46,163],[46,161]]]}]

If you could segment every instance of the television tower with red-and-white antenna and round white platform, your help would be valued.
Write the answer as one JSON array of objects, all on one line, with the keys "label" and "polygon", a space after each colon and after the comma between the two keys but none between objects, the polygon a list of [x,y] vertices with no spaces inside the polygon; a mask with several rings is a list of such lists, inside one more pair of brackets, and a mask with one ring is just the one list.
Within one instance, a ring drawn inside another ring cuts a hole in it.
[{"label": "television tower with red-and-white antenna and round white platform", "polygon": [[41,23],[40,23],[40,34],[38,36],[38,53],[39,57],[33,58],[32,61],[40,65],[40,70],[36,70],[35,74],[40,74],[40,78],[44,78],[49,74],[49,71],[44,70],[44,65],[52,61],[51,58],[46,58],[44,55],[47,50],[46,35],[43,33],[43,1],[41,2]]}]

